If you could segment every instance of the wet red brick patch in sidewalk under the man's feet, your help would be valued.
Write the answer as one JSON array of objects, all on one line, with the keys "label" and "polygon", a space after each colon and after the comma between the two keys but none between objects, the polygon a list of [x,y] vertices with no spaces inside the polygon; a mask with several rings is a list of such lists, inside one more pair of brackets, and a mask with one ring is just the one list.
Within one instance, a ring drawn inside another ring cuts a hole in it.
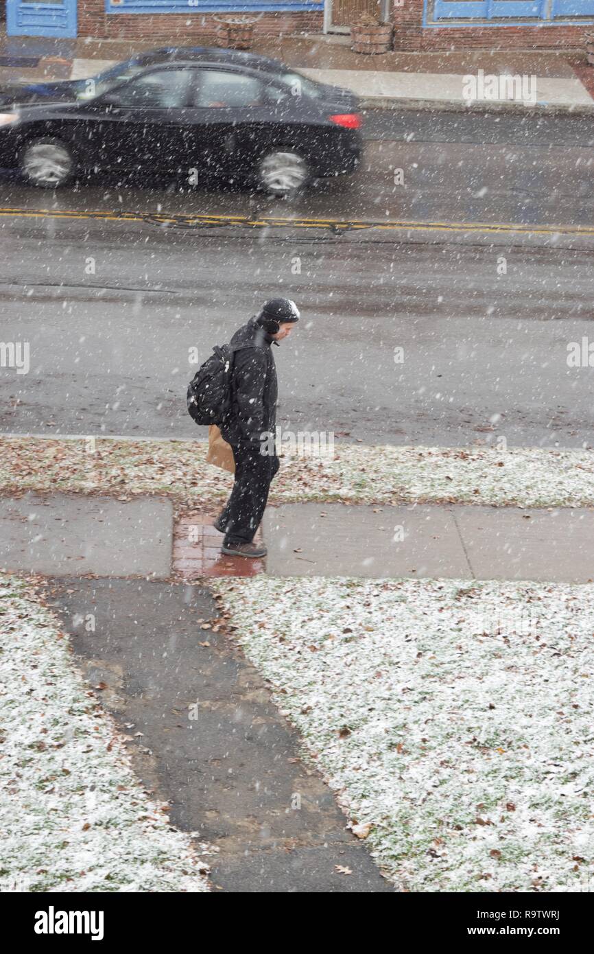
[{"label": "wet red brick patch in sidewalk under the man's feet", "polygon": [[[223,535],[215,530],[215,513],[189,513],[174,528],[174,575],[183,580],[200,576],[256,576],[265,571],[264,560],[221,553]],[[262,540],[258,528],[255,540]]]}]

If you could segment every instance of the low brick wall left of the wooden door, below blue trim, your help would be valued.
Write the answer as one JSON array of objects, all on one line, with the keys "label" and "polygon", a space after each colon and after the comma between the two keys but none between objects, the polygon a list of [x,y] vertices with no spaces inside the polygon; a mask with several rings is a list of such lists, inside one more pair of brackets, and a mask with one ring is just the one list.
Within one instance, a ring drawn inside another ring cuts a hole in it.
[{"label": "low brick wall left of the wooden door, below blue trim", "polygon": [[[204,42],[215,36],[215,17],[222,13],[106,13],[104,0],[78,0],[78,35],[111,40]],[[258,15],[258,14],[255,14]],[[323,14],[301,10],[264,13],[257,20],[259,36],[300,31],[320,32]]]}]

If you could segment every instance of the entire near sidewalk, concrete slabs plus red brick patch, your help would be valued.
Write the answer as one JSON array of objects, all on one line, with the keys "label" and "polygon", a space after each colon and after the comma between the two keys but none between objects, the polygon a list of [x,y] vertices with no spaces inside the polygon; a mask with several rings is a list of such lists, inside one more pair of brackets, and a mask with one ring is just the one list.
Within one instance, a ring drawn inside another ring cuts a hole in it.
[{"label": "entire near sidewalk, concrete slabs plus red brick patch", "polygon": [[358,576],[587,583],[594,508],[269,506],[263,560],[225,556],[215,513],[174,520],[166,498],[0,499],[0,568],[186,582],[216,576]]}]

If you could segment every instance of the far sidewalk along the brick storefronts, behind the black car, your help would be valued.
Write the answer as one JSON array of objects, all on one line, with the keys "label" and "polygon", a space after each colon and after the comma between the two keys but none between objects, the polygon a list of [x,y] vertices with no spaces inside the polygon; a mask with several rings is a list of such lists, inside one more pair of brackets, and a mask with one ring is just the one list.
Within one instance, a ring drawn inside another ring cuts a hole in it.
[{"label": "far sidewalk along the brick storefronts, behind the black car", "polygon": [[[10,37],[0,44],[0,83],[86,78],[157,44],[110,40],[48,40]],[[165,44],[159,44],[160,46]],[[594,113],[594,67],[585,53],[563,52],[388,52],[365,56],[348,37],[288,36],[256,40],[253,52],[273,56],[320,82],[357,93],[363,107],[461,111]],[[529,98],[518,82],[523,77]],[[477,79],[468,97],[467,77]],[[484,98],[488,77],[497,95]],[[522,96],[524,98],[522,98]]]}]

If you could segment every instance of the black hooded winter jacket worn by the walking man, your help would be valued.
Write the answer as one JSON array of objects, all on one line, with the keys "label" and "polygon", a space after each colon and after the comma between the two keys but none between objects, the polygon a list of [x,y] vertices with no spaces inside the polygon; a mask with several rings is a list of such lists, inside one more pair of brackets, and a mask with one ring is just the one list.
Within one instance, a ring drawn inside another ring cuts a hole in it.
[{"label": "black hooded winter jacket worn by the walking man", "polygon": [[231,339],[233,345],[245,345],[234,354],[231,407],[220,425],[223,439],[232,446],[256,449],[263,431],[275,432],[278,390],[273,342],[255,318]]}]

